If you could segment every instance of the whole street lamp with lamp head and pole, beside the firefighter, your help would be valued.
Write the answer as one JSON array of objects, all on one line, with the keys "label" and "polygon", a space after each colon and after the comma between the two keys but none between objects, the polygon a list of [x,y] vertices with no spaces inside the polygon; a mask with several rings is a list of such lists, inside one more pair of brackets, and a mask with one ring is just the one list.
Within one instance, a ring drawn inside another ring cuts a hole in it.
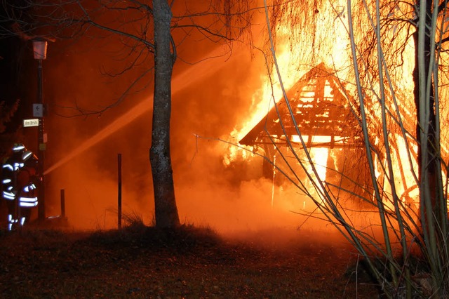
[{"label": "whole street lamp with lamp head and pole, beside the firefighter", "polygon": [[33,41],[34,59],[37,60],[37,104],[33,105],[33,117],[39,118],[39,126],[37,130],[37,157],[39,159],[39,175],[41,182],[39,190],[39,204],[37,206],[37,218],[41,221],[45,220],[45,181],[43,178],[43,162],[45,159],[46,136],[43,127],[43,98],[42,98],[42,60],[47,58],[47,41],[42,38],[35,38]]}]

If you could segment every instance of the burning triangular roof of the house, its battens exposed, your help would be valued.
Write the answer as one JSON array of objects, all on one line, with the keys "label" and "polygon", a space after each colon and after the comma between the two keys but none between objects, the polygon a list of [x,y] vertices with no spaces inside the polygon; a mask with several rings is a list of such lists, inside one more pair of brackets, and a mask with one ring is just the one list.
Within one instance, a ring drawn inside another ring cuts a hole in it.
[{"label": "burning triangular roof of the house, its battens exposed", "polygon": [[[344,91],[340,79],[324,63],[304,74],[286,95],[288,105],[285,98],[276,103],[239,141],[241,145],[272,143],[269,136],[282,144],[286,142],[286,136],[299,135],[297,130],[303,137],[307,136],[310,147],[361,145],[361,131],[356,117],[358,109],[351,108],[356,104]],[[314,136],[328,136],[330,140],[318,144],[314,142]]]}]

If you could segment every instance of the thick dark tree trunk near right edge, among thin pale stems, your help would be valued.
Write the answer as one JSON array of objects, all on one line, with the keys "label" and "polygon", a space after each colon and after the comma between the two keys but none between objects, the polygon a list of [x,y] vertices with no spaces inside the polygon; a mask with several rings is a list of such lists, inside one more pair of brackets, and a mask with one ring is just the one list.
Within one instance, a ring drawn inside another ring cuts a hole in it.
[{"label": "thick dark tree trunk near right edge, among thin pale stems", "polygon": [[[436,0],[435,0],[436,1]],[[436,5],[432,0],[417,1],[419,26],[413,34],[415,42],[415,69],[413,80],[415,83],[414,96],[417,108],[417,141],[418,166],[420,171],[420,220],[422,236],[425,243],[430,272],[432,274],[432,289],[438,290],[443,296],[445,284],[445,267],[447,254],[447,207],[443,199],[441,188],[441,168],[439,147],[437,144],[437,124],[435,111],[435,96],[438,95],[435,80],[438,77],[429,71],[435,63],[434,55],[434,24]],[[424,7],[423,7],[424,6]],[[433,10],[432,10],[433,8]],[[434,72],[433,70],[431,72]],[[439,174],[438,174],[439,172]],[[443,249],[445,248],[445,249]],[[444,253],[443,250],[446,250]]]}]

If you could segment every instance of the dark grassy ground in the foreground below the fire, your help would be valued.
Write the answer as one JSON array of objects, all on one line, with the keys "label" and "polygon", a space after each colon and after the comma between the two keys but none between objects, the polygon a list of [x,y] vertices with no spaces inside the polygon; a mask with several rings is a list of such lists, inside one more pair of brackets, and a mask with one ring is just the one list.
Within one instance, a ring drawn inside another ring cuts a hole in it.
[{"label": "dark grassy ground in the foreground below the fire", "polygon": [[375,298],[342,241],[207,229],[0,233],[0,298]]}]

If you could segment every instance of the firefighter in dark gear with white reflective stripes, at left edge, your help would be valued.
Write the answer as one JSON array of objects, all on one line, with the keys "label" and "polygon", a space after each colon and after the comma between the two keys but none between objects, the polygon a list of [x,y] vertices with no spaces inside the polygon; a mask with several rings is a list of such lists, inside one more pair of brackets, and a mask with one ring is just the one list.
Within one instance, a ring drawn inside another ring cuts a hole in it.
[{"label": "firefighter in dark gear with white reflective stripes, at left edge", "polygon": [[6,159],[2,172],[3,198],[8,207],[8,230],[22,227],[29,221],[32,208],[37,206],[36,186],[38,159],[22,143],[16,143]]}]

